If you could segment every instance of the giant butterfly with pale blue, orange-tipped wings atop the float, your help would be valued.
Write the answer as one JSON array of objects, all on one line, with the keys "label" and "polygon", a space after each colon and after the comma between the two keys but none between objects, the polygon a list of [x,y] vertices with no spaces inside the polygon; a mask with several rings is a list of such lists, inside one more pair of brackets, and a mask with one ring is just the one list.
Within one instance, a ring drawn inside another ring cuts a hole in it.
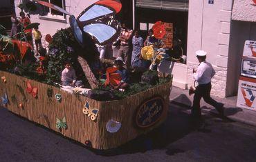
[{"label": "giant butterfly with pale blue, orange-tipped wings atop the float", "polygon": [[66,10],[46,1],[33,0],[43,6],[68,14],[75,39],[84,46],[83,34],[89,34],[96,45],[106,45],[116,41],[120,35],[120,23],[113,18],[120,12],[122,4],[118,0],[100,0],[86,8],[75,19]]}]

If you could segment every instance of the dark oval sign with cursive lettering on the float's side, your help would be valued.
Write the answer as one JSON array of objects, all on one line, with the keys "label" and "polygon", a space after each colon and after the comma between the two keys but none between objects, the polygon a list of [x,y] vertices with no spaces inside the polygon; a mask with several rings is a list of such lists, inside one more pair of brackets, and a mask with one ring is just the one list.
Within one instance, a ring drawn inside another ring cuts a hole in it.
[{"label": "dark oval sign with cursive lettering on the float's side", "polygon": [[140,105],[136,111],[136,125],[139,128],[149,128],[157,123],[165,110],[161,97],[154,97]]}]

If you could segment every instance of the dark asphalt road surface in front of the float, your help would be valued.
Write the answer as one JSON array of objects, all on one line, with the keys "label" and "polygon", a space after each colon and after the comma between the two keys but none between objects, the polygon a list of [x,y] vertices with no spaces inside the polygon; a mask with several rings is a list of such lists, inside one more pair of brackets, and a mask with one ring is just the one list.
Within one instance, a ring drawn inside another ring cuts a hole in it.
[{"label": "dark asphalt road surface in front of the float", "polygon": [[0,109],[0,161],[256,161],[256,128],[204,115],[193,125],[170,105],[160,128],[120,148],[99,152]]}]

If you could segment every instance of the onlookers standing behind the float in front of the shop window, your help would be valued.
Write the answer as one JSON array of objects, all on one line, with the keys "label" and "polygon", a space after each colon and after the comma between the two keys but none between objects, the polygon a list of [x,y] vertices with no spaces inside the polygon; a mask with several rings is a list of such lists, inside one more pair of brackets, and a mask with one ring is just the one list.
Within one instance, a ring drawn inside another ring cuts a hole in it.
[{"label": "onlookers standing behind the float in front of the shop window", "polygon": [[[141,49],[143,47],[154,45],[155,50],[164,49],[165,53],[170,56],[172,61],[185,63],[186,56],[183,53],[181,43],[180,39],[174,39],[173,47],[165,48],[165,43],[161,39],[156,39],[156,37],[154,37],[152,29],[149,30],[144,41],[140,30],[131,30],[127,28],[125,23],[122,23],[120,40],[112,45],[105,45],[98,49],[100,52],[100,59],[107,57],[107,53],[111,53],[113,58],[122,57],[127,68],[149,68],[150,61],[143,60],[143,57],[141,56]],[[111,47],[111,49],[109,47]]]}]

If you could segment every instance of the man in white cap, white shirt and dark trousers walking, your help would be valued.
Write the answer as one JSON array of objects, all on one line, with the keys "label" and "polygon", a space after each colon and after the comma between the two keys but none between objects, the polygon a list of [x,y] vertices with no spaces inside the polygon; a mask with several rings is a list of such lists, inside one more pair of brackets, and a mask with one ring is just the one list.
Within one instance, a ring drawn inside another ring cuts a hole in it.
[{"label": "man in white cap, white shirt and dark trousers walking", "polygon": [[193,69],[193,78],[199,83],[194,91],[194,101],[192,105],[192,117],[201,119],[200,100],[203,100],[217,109],[221,116],[223,115],[223,103],[218,103],[210,97],[212,88],[211,79],[215,74],[212,65],[205,61],[207,52],[203,50],[196,51],[196,57],[199,61],[197,70]]}]

